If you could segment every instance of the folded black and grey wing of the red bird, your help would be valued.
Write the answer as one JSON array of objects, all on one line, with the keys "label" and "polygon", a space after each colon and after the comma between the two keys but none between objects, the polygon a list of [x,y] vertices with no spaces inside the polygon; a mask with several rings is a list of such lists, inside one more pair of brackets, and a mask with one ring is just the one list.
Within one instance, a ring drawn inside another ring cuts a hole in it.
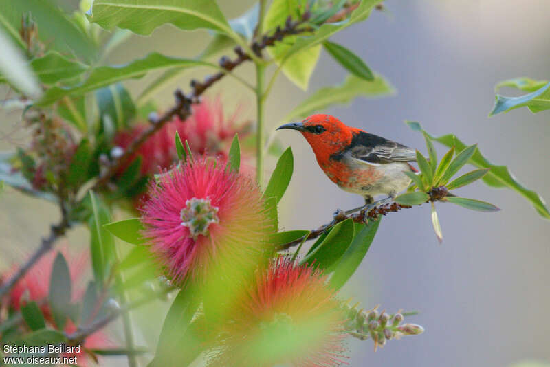
[{"label": "folded black and grey wing of the red bird", "polygon": [[417,160],[414,149],[364,131],[353,134],[349,152],[353,158],[369,163],[413,162]]}]

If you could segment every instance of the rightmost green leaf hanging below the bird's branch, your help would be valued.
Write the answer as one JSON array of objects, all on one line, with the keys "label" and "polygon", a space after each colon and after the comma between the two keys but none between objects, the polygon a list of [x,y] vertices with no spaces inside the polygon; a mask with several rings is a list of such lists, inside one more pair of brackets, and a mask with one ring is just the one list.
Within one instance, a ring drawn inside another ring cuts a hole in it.
[{"label": "rightmost green leaf hanging below the bird's branch", "polygon": [[353,273],[355,273],[355,270],[357,270],[366,256],[366,252],[369,251],[381,221],[382,217],[369,221],[367,225],[355,223],[353,241],[346,252],[344,252],[342,258],[340,258],[340,262],[334,267],[334,273],[329,281],[332,287],[336,289],[342,288],[349,278],[353,276]]}]

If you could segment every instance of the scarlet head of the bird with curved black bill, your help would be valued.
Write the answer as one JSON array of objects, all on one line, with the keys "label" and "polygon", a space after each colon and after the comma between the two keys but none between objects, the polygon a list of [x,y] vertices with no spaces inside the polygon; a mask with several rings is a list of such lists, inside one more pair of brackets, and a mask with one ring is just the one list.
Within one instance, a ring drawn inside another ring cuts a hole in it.
[{"label": "scarlet head of the bird with curved black bill", "polygon": [[351,143],[353,132],[358,129],[350,128],[331,115],[311,115],[302,122],[292,122],[279,126],[280,129],[298,130],[313,148],[318,160],[324,161],[342,151]]}]

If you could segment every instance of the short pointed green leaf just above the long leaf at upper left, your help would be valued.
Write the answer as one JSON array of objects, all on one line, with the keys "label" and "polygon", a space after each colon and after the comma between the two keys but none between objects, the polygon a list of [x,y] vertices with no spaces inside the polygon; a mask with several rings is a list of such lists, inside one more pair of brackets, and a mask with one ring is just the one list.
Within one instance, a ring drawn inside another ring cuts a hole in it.
[{"label": "short pointed green leaf just above the long leaf at upper left", "polygon": [[[29,65],[34,71],[34,75],[46,85],[76,78],[88,68],[87,65],[69,60],[56,51],[49,51],[42,57],[34,58]],[[6,82],[6,80],[0,76],[0,83],[2,82]]]}]

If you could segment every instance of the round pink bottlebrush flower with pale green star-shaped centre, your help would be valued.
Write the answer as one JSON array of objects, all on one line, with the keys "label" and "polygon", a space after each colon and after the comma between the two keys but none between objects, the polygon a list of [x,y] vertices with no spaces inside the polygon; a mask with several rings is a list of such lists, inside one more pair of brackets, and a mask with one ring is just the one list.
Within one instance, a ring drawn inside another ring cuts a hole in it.
[{"label": "round pink bottlebrush flower with pale green star-shaped centre", "polygon": [[212,267],[253,269],[275,230],[256,183],[213,159],[168,171],[148,195],[144,235],[178,283],[188,274],[203,278]]}]

